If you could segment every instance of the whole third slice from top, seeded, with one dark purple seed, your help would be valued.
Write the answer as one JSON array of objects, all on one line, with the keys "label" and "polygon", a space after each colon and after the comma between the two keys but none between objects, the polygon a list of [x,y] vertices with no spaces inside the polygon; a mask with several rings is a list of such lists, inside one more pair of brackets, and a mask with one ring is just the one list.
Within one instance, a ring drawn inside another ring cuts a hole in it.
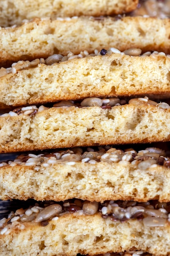
[{"label": "whole third slice from top, seeded, with one dark purple seed", "polygon": [[96,54],[88,56],[84,51],[80,58],[71,53],[64,57],[57,54],[45,61],[19,61],[11,68],[1,68],[0,102],[21,106],[106,95],[170,93],[169,55],[140,55],[140,49],[121,53],[115,48]]}]

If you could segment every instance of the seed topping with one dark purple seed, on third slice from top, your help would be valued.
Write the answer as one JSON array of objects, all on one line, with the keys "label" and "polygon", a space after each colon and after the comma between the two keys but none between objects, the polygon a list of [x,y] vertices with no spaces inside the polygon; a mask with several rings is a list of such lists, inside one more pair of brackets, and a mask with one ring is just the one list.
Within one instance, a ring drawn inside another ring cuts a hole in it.
[{"label": "seed topping with one dark purple seed, on third slice from top", "polygon": [[119,49],[116,49],[114,47],[111,47],[110,49],[106,50],[106,49],[102,49],[100,52],[95,49],[94,53],[89,54],[87,50],[84,50],[83,52],[80,52],[79,54],[75,55],[73,54],[73,52],[67,52],[66,56],[63,56],[61,54],[53,54],[51,56],[49,56],[48,58],[46,58],[44,60],[44,58],[40,58],[40,59],[35,59],[33,61],[18,61],[16,63],[13,63],[11,65],[11,67],[8,68],[4,68],[1,67],[0,68],[0,76],[5,76],[7,74],[15,74],[17,73],[19,70],[23,70],[23,69],[29,69],[31,67],[36,67],[38,66],[38,64],[46,64],[46,65],[53,65],[54,63],[60,63],[60,62],[64,62],[64,61],[69,61],[71,59],[74,58],[85,58],[87,56],[97,56],[97,55],[110,55],[112,53],[119,53],[121,55],[129,55],[129,56],[141,56],[141,57],[146,57],[146,56],[152,56],[153,58],[155,58],[156,55],[159,56],[167,56],[170,57],[170,55],[166,55],[164,52],[146,52],[144,54],[141,54],[141,49],[139,48],[130,48],[125,50],[124,52],[120,52]]}]

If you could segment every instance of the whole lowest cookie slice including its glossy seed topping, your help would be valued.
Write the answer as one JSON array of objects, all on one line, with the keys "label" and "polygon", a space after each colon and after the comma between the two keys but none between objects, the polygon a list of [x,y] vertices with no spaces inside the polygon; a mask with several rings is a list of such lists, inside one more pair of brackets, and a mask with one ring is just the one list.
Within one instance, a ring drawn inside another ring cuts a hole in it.
[{"label": "whole lowest cookie slice including its glossy seed topping", "polygon": [[0,254],[103,254],[142,249],[170,255],[170,204],[151,201],[44,202],[0,222]]}]

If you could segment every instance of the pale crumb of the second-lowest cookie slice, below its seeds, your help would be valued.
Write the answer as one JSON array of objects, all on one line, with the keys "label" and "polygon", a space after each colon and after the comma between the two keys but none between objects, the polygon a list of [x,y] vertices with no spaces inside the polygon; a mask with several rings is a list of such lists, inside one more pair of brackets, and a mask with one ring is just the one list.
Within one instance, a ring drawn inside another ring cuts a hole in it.
[{"label": "pale crumb of the second-lowest cookie slice, below its seeds", "polygon": [[49,158],[48,162],[38,170],[35,165],[0,167],[0,199],[170,201],[169,168],[151,164],[147,168],[149,160],[141,162],[146,169],[127,161],[53,164]]}]

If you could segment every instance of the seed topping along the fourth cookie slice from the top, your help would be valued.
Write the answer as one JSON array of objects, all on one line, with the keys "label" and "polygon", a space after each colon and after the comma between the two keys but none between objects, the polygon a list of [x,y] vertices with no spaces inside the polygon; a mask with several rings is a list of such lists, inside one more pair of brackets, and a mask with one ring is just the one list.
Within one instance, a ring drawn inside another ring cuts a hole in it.
[{"label": "seed topping along the fourth cookie slice from the top", "polygon": [[[100,99],[96,97],[91,97],[91,98],[86,98],[81,102],[76,102],[76,101],[59,101],[53,105],[54,108],[59,108],[59,107],[64,107],[68,108],[71,106],[75,106],[78,108],[82,107],[92,107],[92,106],[98,106],[103,109],[111,109],[113,106],[120,106],[124,105],[127,103],[133,103],[137,106],[146,104],[146,105],[153,105],[158,108],[162,109],[168,109],[170,106],[166,102],[160,102],[157,103],[156,101],[151,101],[148,99],[148,97],[144,98],[135,98],[135,99],[130,99],[129,102],[127,102],[125,99],[119,99],[117,97],[114,98],[108,98],[108,99]],[[29,116],[34,116],[38,112],[42,112],[43,110],[47,110],[49,107],[45,106],[40,106],[39,108],[37,106],[27,106],[27,107],[19,107],[15,108],[13,111],[10,111],[9,113],[2,114],[1,117],[6,117],[6,116],[18,116],[18,115],[29,115]]]}]

